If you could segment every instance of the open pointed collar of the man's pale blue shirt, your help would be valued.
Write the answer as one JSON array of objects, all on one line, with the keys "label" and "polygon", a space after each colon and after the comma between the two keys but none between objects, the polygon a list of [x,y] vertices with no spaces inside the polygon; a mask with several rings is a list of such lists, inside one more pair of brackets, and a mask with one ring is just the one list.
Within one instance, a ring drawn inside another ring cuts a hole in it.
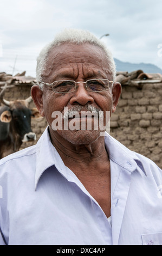
[{"label": "open pointed collar of the man's pale blue shirt", "polygon": [[[36,144],[35,190],[41,175],[51,166],[55,166],[64,178],[68,179],[68,168],[64,165],[59,153],[50,141],[48,127]],[[142,170],[146,175],[137,154],[116,141],[107,132],[105,132],[105,146],[109,158],[116,164],[127,169],[129,172],[133,172],[135,169]]]}]

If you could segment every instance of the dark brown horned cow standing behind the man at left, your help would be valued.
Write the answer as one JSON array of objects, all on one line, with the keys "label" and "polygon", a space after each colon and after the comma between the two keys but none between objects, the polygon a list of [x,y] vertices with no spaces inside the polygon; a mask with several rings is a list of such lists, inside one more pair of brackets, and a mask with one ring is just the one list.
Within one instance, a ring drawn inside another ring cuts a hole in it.
[{"label": "dark brown horned cow standing behind the man at left", "polygon": [[0,100],[0,159],[18,151],[23,142],[35,141],[36,134],[31,130],[31,118],[39,118],[37,108],[29,109],[31,96],[25,100]]}]

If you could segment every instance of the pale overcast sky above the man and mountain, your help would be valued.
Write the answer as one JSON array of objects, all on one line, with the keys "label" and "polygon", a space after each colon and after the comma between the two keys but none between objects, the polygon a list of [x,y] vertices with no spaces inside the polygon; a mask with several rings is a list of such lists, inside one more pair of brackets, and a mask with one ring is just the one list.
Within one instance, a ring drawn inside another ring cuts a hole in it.
[{"label": "pale overcast sky above the man and mountain", "polygon": [[0,72],[35,77],[39,51],[67,27],[109,33],[115,58],[162,69],[161,10],[161,0],[0,0]]}]

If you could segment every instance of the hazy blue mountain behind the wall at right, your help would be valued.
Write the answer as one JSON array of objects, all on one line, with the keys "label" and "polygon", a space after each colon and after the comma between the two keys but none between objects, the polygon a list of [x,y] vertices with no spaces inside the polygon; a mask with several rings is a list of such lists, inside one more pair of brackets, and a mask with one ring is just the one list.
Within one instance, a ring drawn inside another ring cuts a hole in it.
[{"label": "hazy blue mountain behind the wall at right", "polygon": [[121,62],[119,59],[115,59],[116,64],[116,71],[128,71],[132,72],[138,69],[141,69],[145,73],[160,73],[162,75],[162,69],[158,68],[158,66],[155,66],[154,64],[147,64],[147,63],[139,63],[139,64],[133,64],[129,62]]}]

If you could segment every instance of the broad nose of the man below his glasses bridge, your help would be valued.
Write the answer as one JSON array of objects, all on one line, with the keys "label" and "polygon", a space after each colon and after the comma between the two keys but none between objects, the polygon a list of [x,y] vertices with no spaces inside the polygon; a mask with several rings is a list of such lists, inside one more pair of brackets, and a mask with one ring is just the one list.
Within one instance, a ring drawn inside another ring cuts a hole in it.
[{"label": "broad nose of the man below his glasses bridge", "polygon": [[78,103],[82,106],[86,105],[87,103],[92,104],[94,99],[92,96],[89,95],[89,92],[85,88],[85,84],[80,82],[76,86],[76,90],[73,93],[73,96],[70,99],[71,105],[77,105]]}]

